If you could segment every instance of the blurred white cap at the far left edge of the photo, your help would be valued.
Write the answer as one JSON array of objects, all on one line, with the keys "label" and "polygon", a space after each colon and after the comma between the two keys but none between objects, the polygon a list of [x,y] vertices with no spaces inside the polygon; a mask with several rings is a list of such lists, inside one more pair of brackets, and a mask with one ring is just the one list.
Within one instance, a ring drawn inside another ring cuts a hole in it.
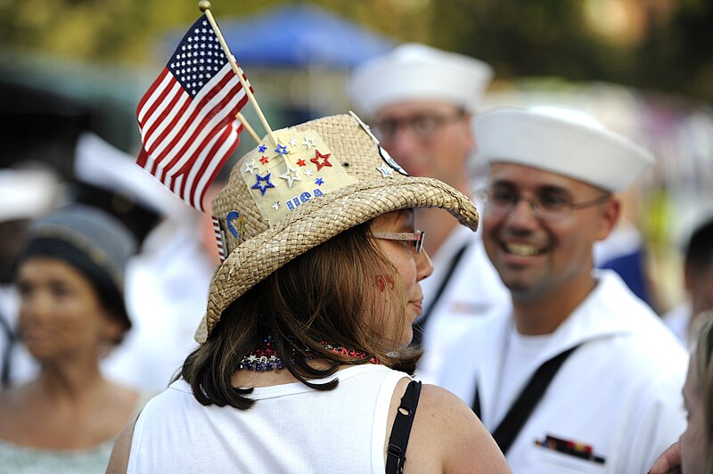
[{"label": "blurred white cap at the far left edge of the photo", "polygon": [[0,222],[32,219],[52,209],[60,193],[57,176],[44,169],[0,169]]}]

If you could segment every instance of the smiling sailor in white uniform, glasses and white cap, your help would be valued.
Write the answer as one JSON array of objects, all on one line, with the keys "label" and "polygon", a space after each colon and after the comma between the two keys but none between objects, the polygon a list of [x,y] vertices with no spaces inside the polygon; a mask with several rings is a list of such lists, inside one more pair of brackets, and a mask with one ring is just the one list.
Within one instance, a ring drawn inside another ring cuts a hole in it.
[{"label": "smiling sailor in white uniform, glasses and white cap", "polygon": [[652,154],[553,107],[488,110],[475,135],[483,241],[512,305],[456,341],[439,383],[516,473],[646,472],[685,428],[686,355],[618,274],[593,269],[592,249]]}]

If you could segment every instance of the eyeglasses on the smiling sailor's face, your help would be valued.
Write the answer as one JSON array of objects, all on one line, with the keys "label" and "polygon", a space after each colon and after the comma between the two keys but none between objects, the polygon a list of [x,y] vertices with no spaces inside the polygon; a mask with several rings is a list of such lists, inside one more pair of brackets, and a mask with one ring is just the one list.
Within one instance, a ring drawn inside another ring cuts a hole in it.
[{"label": "eyeglasses on the smiling sailor's face", "polygon": [[593,208],[610,200],[611,193],[607,192],[594,200],[572,202],[558,194],[545,193],[525,199],[517,192],[488,190],[480,194],[480,199],[488,211],[494,214],[507,214],[518,205],[520,200],[525,200],[536,217],[545,221],[558,221],[569,217],[573,210]]}]

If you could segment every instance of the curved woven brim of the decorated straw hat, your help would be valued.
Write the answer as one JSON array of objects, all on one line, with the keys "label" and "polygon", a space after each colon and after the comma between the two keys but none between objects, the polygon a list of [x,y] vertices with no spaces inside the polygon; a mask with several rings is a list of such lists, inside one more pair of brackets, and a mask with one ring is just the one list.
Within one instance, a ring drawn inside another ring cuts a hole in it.
[{"label": "curved woven brim of the decorated straw hat", "polygon": [[403,208],[444,208],[461,224],[478,228],[473,201],[432,178],[409,177],[387,185],[360,182],[310,200],[225,258],[211,283],[205,324],[196,340],[204,342],[227,306],[293,258],[355,225]]}]

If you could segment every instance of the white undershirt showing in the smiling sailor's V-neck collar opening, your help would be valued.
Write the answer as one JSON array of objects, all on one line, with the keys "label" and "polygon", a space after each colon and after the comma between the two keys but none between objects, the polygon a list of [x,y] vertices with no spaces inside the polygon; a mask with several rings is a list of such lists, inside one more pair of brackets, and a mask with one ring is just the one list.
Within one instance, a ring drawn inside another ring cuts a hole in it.
[{"label": "white undershirt showing in the smiling sailor's V-neck collar opening", "polygon": [[[495,426],[503,420],[510,406],[520,395],[529,377],[537,370],[534,361],[541,354],[543,347],[552,338],[552,334],[542,336],[523,336],[511,324],[505,344],[503,368],[500,372],[500,386],[497,390],[493,411]],[[493,427],[492,429],[495,429]]]}]

